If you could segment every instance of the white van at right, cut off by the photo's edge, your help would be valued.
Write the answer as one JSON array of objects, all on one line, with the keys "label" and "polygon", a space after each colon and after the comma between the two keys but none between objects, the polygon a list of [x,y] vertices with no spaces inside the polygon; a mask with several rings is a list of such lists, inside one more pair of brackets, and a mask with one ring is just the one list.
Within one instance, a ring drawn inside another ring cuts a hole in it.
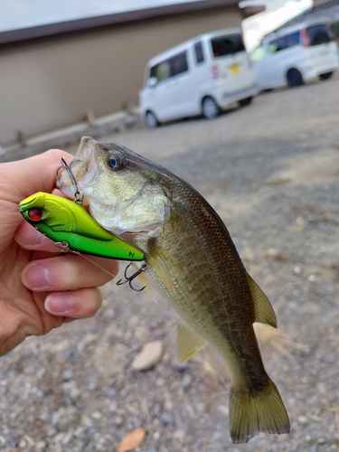
[{"label": "white van at right, cut off by the photo's edge", "polygon": [[297,86],[339,68],[338,45],[326,21],[304,22],[268,34],[250,53],[259,89]]}]

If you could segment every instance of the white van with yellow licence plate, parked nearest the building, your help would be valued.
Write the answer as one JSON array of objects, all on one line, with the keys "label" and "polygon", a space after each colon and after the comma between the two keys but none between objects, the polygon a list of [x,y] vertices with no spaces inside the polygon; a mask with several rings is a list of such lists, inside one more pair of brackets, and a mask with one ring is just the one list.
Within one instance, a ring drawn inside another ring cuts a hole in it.
[{"label": "white van with yellow licence plate, parked nearest the building", "polygon": [[201,34],[156,55],[146,65],[140,114],[154,128],[172,119],[216,118],[221,108],[258,94],[240,28]]}]

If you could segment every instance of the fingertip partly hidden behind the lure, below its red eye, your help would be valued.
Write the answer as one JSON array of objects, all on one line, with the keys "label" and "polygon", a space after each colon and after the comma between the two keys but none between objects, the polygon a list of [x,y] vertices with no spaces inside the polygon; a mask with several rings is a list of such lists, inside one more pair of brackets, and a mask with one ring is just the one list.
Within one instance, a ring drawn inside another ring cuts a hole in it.
[{"label": "fingertip partly hidden behind the lure, below its red eye", "polygon": [[43,235],[42,232],[37,231],[27,221],[23,221],[15,231],[14,240],[24,250],[58,251],[53,240]]}]

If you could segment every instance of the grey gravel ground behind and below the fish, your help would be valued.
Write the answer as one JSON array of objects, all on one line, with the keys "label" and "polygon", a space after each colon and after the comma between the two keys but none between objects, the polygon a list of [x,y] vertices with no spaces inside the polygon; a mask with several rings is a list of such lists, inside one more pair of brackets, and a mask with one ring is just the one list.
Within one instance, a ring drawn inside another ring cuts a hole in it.
[{"label": "grey gravel ground behind and below the fish", "polygon": [[[115,451],[134,428],[147,431],[141,452],[339,450],[338,93],[336,75],[261,94],[213,121],[100,137],[180,174],[220,213],[278,316],[279,337],[259,336],[291,433],[232,445],[219,356],[208,346],[177,366],[170,306],[113,281],[94,318],[1,358],[1,450]],[[137,371],[154,341],[161,357]]]}]

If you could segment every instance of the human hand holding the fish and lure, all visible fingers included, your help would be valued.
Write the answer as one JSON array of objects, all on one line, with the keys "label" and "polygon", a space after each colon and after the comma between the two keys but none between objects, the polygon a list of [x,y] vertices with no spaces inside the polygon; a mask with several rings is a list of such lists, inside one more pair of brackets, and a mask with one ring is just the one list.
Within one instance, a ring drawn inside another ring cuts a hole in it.
[{"label": "human hand holding the fish and lure, all visible fingers included", "polygon": [[19,212],[18,203],[36,192],[52,193],[60,157],[42,155],[0,165],[0,355],[29,335],[49,333],[63,323],[94,315],[101,305],[97,287],[118,272],[118,261],[91,260],[56,252]]}]

